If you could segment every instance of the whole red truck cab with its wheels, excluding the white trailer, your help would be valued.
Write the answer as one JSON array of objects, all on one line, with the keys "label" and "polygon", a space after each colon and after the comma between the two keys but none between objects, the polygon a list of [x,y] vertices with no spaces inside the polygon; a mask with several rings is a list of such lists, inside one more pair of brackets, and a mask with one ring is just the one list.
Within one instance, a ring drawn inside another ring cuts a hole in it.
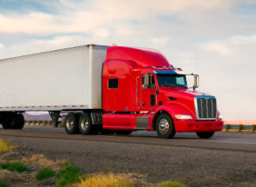
[{"label": "whole red truck cab with its wheels, excluding the white trailer", "polygon": [[[194,77],[193,88],[187,76]],[[145,129],[167,139],[176,132],[210,138],[223,121],[216,98],[197,86],[197,75],[175,68],[156,50],[109,47],[102,70],[103,128]]]}]

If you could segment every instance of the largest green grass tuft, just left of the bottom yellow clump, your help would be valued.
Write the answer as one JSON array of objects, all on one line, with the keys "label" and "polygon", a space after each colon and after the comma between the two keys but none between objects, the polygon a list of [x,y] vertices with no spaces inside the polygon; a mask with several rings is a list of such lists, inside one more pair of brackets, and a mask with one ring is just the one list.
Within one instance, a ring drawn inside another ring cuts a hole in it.
[{"label": "largest green grass tuft, just left of the bottom yellow clump", "polygon": [[65,186],[67,184],[78,183],[80,180],[81,171],[79,167],[67,165],[61,169],[57,176],[56,186]]}]

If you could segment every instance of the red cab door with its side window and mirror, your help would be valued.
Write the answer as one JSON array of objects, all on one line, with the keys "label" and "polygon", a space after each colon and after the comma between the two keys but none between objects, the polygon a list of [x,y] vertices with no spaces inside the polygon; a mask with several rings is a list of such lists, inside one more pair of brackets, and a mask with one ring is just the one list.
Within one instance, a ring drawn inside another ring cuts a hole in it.
[{"label": "red cab door with its side window and mirror", "polygon": [[157,104],[156,85],[154,74],[144,74],[142,77],[141,107],[142,109],[153,110]]}]

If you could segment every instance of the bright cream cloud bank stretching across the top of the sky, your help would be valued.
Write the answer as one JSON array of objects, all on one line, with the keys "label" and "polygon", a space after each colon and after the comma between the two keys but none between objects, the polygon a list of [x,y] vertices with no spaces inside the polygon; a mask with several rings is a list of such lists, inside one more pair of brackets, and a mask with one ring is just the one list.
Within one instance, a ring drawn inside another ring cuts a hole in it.
[{"label": "bright cream cloud bank stretching across the top of the sky", "polygon": [[[34,35],[56,32],[81,32],[102,29],[102,26],[114,26],[119,20],[151,20],[160,14],[176,14],[192,10],[212,10],[223,8],[225,1],[179,1],[162,0],[98,0],[87,1],[61,0],[61,7],[67,7],[61,14],[28,12],[27,14],[0,14],[0,33],[28,33]],[[58,4],[55,5],[57,8]],[[116,27],[116,26],[114,26]]]}]

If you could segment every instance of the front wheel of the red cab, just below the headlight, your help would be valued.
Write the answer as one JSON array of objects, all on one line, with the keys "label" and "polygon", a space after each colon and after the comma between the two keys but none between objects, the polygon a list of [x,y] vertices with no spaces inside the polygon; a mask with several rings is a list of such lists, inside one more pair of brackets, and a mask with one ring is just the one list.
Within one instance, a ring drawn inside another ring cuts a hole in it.
[{"label": "front wheel of the red cab, just below the headlight", "polygon": [[157,117],[155,128],[158,136],[163,139],[172,139],[176,133],[172,118],[166,113],[162,113]]}]

